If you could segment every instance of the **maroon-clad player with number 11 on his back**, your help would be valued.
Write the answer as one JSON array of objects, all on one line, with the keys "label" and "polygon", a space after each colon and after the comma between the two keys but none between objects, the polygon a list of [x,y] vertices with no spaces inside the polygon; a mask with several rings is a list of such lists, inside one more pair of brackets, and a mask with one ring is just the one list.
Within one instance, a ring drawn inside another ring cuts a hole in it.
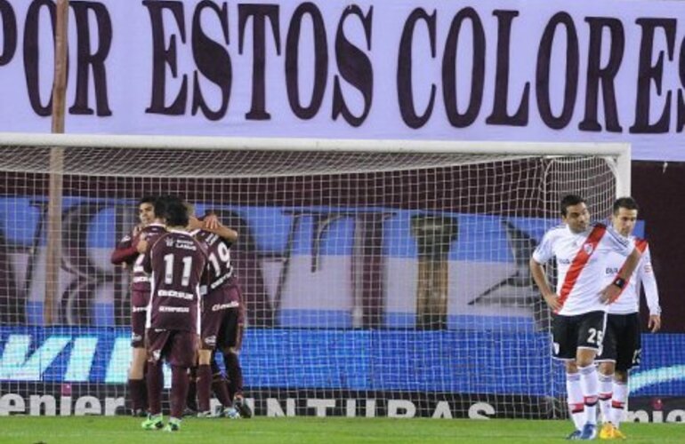
[{"label": "maroon-clad player with number 11 on his back", "polygon": [[[147,329],[149,416],[142,428],[176,432],[188,392],[188,369],[195,364],[200,332],[200,284],[207,262],[203,245],[186,230],[188,209],[176,197],[155,202],[167,234],[145,254],[142,266],[151,274]],[[162,359],[172,368],[171,417],[162,417]]]}]

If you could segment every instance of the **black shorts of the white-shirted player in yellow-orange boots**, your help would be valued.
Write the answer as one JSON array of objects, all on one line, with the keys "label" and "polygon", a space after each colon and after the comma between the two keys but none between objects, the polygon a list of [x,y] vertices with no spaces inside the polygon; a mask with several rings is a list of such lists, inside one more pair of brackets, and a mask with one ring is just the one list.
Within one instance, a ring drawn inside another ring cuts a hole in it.
[{"label": "black shorts of the white-shirted player in yellow-orange boots", "polygon": [[627,371],[640,366],[642,341],[640,336],[640,315],[609,314],[604,347],[595,361],[616,362],[616,369]]}]

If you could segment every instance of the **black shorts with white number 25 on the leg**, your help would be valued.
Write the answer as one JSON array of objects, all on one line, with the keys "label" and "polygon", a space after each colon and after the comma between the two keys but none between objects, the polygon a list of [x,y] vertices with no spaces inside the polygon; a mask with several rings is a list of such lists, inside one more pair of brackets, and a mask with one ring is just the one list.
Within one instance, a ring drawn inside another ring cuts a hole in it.
[{"label": "black shorts with white number 25 on the leg", "polygon": [[590,348],[600,353],[606,315],[604,312],[575,316],[555,315],[552,319],[552,356],[563,361],[573,361],[578,348]]}]

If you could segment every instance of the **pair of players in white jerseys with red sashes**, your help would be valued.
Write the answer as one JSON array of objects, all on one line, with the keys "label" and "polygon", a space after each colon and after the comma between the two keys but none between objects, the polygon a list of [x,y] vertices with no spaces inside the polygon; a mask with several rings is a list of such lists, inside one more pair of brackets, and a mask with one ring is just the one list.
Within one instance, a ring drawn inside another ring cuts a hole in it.
[{"label": "pair of players in white jerseys with red sashes", "polygon": [[[544,234],[530,269],[552,319],[553,357],[566,364],[568,411],[575,424],[569,440],[597,436],[624,439],[619,430],[628,399],[628,372],[640,364],[640,289],[649,307],[648,328],[661,327],[657,281],[649,245],[633,236],[638,204],[632,197],[614,202],[611,225],[591,224],[585,200],[561,200],[562,225]],[[556,291],[544,264],[556,258]],[[599,371],[598,371],[599,366]]]}]

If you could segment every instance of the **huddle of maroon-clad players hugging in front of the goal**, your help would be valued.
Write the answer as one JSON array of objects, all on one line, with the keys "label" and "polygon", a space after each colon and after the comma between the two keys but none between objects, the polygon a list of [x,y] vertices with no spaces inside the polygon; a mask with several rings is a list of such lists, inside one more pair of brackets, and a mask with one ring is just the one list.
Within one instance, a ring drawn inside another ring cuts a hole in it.
[{"label": "huddle of maroon-clad players hugging in front of the goal", "polygon": [[[214,391],[232,419],[252,416],[243,398],[238,361],[245,306],[230,260],[238,233],[214,214],[197,218],[192,205],[176,196],[144,197],[140,224],[112,253],[112,263],[133,266],[128,387],[142,428],[176,432],[189,410],[214,416]],[[226,375],[216,363],[221,354]],[[171,416],[162,408],[162,362],[172,370]],[[197,393],[197,404],[196,404]],[[193,408],[189,409],[186,406]]]}]

